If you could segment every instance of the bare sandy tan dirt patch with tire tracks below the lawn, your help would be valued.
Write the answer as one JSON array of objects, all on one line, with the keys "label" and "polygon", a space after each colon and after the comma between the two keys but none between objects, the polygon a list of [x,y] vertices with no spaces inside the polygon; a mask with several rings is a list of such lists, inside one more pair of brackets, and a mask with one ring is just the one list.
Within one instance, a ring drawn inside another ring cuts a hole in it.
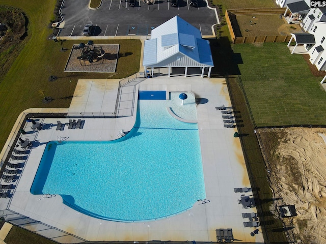
[{"label": "bare sandy tan dirt patch with tire tracks below the lawn", "polygon": [[[259,129],[269,181],[273,190],[273,209],[295,205],[297,216],[284,218],[293,224],[296,241],[326,243],[326,129]],[[279,199],[279,200],[277,200]]]}]

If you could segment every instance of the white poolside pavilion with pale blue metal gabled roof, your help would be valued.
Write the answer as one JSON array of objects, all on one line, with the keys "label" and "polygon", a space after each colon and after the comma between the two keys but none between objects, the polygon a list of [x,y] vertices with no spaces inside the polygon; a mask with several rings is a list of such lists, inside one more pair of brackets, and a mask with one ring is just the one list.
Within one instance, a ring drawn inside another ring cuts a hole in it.
[{"label": "white poolside pavilion with pale blue metal gabled roof", "polygon": [[191,67],[200,67],[201,77],[208,68],[210,77],[214,67],[209,41],[201,38],[199,29],[178,16],[152,30],[151,39],[145,40],[143,66],[145,74],[151,68],[152,76],[154,68],[168,67],[169,77],[173,67],[184,67],[185,77]]}]

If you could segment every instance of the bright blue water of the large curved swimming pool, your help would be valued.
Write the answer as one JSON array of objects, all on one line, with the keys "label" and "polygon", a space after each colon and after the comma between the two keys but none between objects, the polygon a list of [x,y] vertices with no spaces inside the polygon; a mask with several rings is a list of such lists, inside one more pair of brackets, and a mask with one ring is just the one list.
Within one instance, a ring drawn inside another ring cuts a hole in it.
[{"label": "bright blue water of the large curved swimming pool", "polygon": [[[32,194],[57,194],[84,214],[115,221],[165,218],[204,199],[195,98],[139,100],[134,128],[115,141],[57,141],[45,148]],[[189,98],[190,97],[190,98]]]}]

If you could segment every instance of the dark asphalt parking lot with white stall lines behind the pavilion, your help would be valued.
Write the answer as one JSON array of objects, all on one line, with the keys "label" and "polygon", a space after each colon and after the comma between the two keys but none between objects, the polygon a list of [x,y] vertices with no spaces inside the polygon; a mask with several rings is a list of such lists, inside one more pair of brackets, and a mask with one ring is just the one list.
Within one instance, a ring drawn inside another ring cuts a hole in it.
[{"label": "dark asphalt parking lot with white stall lines behind the pavilion", "polygon": [[[214,10],[203,0],[198,6],[189,6],[189,0],[177,0],[172,7],[170,0],[146,4],[137,0],[133,7],[126,0],[103,0],[101,7],[89,9],[89,0],[65,0],[61,9],[64,27],[60,36],[81,36],[85,24],[92,23],[92,36],[147,36],[151,30],[178,15],[200,29],[202,36],[212,34],[212,25],[218,23]],[[61,27],[61,26],[60,26]]]}]

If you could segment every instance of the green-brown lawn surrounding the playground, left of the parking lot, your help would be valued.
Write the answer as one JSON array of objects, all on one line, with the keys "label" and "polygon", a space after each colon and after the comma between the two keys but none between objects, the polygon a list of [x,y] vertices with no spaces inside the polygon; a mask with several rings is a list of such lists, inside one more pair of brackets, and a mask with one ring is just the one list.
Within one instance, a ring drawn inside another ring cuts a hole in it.
[{"label": "green-brown lawn surrounding the playground, left of the parking lot", "polygon": [[[48,40],[51,34],[48,24],[53,18],[56,1],[0,0],[0,5],[19,7],[29,19],[29,42],[0,83],[0,148],[4,146],[17,116],[23,110],[33,107],[69,107],[78,79],[124,78],[139,71],[139,40],[95,40],[95,44],[120,44],[116,73],[65,73],[63,70],[71,47],[80,41],[64,42],[67,50],[62,52],[60,42]],[[59,78],[49,82],[50,75]],[[40,90],[55,100],[43,104]]]}]

